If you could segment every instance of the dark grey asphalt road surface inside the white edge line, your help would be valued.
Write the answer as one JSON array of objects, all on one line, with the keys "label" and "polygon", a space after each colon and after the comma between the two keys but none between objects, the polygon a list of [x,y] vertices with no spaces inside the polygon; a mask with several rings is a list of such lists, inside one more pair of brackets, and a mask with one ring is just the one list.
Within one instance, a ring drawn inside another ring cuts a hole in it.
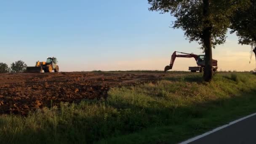
[{"label": "dark grey asphalt road surface inside the white edge line", "polygon": [[256,144],[256,115],[189,144]]}]

